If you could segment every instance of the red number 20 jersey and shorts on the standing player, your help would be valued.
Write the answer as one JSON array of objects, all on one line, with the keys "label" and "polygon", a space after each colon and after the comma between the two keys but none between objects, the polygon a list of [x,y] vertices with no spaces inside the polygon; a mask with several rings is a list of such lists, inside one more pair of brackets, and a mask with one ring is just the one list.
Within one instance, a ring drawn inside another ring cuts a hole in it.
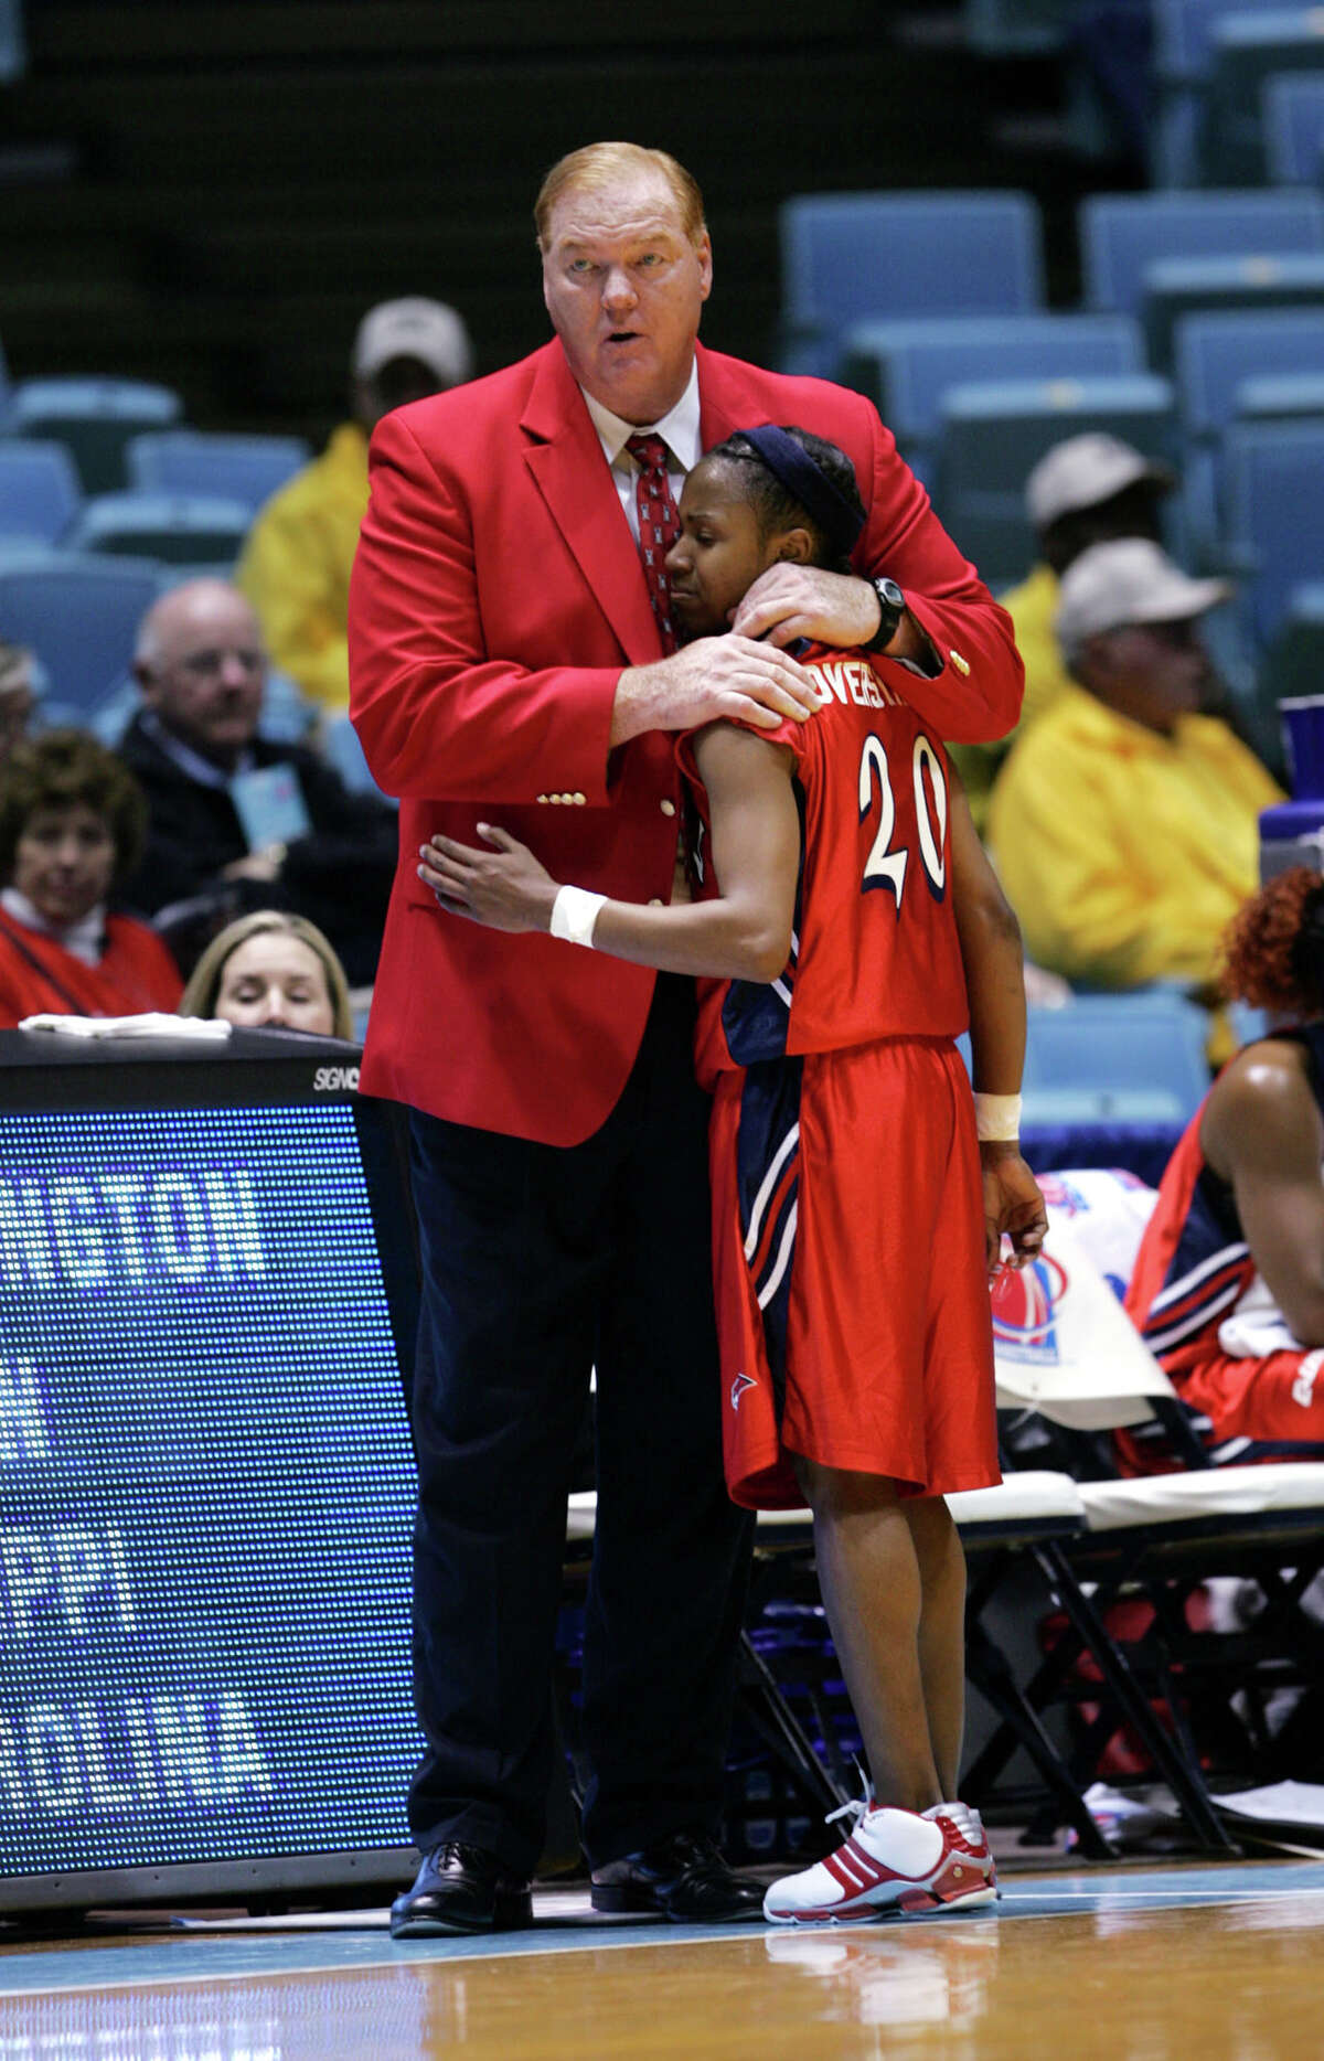
[{"label": "red number 20 jersey and shorts on the standing player", "polygon": [[[796,754],[790,960],[699,983],[726,1482],[749,1509],[802,1505],[788,1451],[909,1494],[1000,1480],[947,754],[866,653],[802,664],[821,713],[759,732]],[[693,738],[678,756],[711,897]]]}]

